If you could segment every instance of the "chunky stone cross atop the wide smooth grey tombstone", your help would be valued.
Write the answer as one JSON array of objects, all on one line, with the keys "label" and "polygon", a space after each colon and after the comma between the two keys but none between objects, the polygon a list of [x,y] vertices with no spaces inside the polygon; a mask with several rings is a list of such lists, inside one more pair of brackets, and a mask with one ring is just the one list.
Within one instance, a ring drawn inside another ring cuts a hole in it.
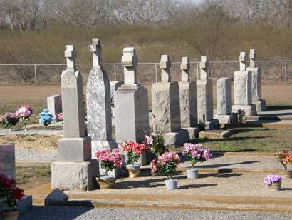
[{"label": "chunky stone cross atop the wide smooth grey tombstone", "polygon": [[124,66],[124,83],[137,84],[138,59],[134,47],[125,47],[122,50],[122,66]]}]

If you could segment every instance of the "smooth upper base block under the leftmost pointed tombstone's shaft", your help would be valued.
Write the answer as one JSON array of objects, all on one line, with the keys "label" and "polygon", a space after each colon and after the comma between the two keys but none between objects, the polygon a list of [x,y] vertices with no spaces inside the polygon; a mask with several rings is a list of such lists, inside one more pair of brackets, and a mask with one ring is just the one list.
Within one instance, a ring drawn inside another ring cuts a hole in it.
[{"label": "smooth upper base block under the leftmost pointed tombstone's shaft", "polygon": [[58,140],[58,161],[87,161],[91,159],[91,138],[62,138]]}]

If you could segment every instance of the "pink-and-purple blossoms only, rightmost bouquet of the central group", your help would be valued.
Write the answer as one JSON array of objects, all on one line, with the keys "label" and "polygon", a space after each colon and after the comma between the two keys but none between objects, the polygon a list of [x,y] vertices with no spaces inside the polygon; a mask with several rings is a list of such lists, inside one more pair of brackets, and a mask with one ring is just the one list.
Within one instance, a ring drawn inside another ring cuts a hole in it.
[{"label": "pink-and-purple blossoms only, rightmost bouquet of the central group", "polygon": [[182,155],[190,154],[192,158],[196,158],[199,161],[207,161],[212,158],[212,154],[207,147],[203,144],[190,144],[185,143]]}]

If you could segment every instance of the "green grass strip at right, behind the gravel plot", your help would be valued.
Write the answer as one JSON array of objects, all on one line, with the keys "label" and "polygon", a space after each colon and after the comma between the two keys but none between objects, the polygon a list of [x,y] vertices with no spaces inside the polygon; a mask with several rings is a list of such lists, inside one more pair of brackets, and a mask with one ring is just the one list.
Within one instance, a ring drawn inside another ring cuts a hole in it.
[{"label": "green grass strip at right, behind the gravel plot", "polygon": [[233,134],[226,139],[196,139],[193,142],[204,143],[212,151],[292,151],[292,129],[236,128],[231,131]]}]

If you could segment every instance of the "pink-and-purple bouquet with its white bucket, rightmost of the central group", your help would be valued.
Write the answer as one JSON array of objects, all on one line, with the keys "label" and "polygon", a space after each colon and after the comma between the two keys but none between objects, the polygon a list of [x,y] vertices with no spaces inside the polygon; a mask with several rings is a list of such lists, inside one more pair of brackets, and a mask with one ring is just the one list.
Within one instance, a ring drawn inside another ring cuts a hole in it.
[{"label": "pink-and-purple bouquet with its white bucket, rightmost of the central group", "polygon": [[187,169],[188,179],[197,179],[199,177],[198,169],[194,169],[194,164],[197,162],[204,162],[212,158],[212,154],[207,147],[203,144],[190,144],[185,143],[182,155],[187,157],[190,161],[192,169]]}]

